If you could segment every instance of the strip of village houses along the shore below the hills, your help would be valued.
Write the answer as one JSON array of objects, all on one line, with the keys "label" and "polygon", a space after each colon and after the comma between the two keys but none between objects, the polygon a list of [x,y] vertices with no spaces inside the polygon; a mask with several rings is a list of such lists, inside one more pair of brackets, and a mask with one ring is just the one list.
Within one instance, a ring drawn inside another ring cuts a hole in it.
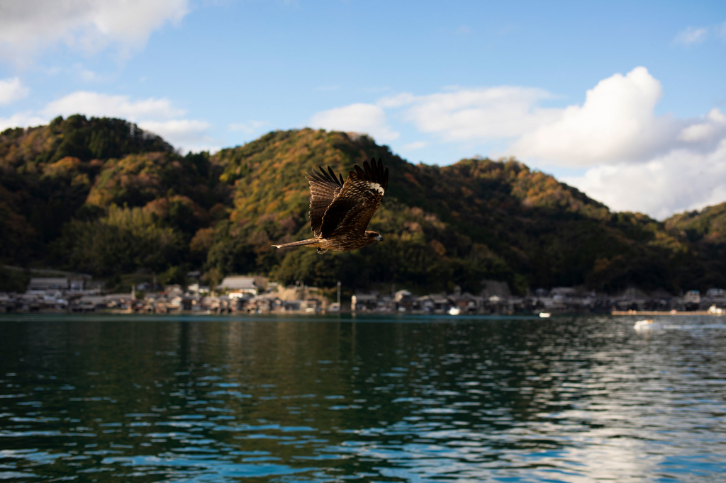
[{"label": "strip of village houses along the shore below the hills", "polygon": [[[190,278],[196,273],[190,272]],[[451,293],[415,295],[391,287],[388,293],[355,293],[341,298],[317,287],[282,286],[263,276],[229,276],[215,287],[199,283],[158,286],[134,284],[129,292],[105,293],[87,275],[33,277],[25,293],[0,292],[0,313],[414,313],[537,315],[611,313],[613,315],[726,314],[726,289],[696,290],[674,296],[627,289],[598,294],[577,287],[536,289],[524,297],[511,294],[505,282],[484,281],[478,294],[455,288]],[[349,293],[349,292],[348,292]]]}]

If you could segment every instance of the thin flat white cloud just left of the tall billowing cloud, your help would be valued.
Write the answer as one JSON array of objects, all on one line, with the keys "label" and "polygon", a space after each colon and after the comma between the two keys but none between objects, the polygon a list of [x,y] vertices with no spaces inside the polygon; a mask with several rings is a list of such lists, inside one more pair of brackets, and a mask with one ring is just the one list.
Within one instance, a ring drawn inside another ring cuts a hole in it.
[{"label": "thin flat white cloud just left of the tall billowing cloud", "polygon": [[510,138],[551,120],[557,110],[537,106],[551,97],[538,88],[500,86],[452,88],[426,96],[399,94],[378,101],[380,107],[406,107],[404,119],[419,131],[445,141]]}]

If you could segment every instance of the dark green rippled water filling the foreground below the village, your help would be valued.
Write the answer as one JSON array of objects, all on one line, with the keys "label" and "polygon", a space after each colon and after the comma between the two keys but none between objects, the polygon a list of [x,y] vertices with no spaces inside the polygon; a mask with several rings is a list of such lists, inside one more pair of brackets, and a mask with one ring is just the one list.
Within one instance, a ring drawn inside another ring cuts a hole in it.
[{"label": "dark green rippled water filling the foreground below the village", "polygon": [[0,318],[0,479],[726,481],[726,318]]}]

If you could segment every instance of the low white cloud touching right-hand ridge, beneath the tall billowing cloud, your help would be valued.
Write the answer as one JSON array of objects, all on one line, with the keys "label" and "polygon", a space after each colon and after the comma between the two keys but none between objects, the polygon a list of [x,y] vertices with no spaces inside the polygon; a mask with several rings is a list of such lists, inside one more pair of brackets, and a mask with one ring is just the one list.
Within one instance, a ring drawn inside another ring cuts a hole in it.
[{"label": "low white cloud touching right-hand ridge, beneath the tall billowing cloud", "polygon": [[613,210],[658,219],[698,210],[726,200],[726,139],[706,154],[675,149],[644,163],[596,166],[563,181]]}]

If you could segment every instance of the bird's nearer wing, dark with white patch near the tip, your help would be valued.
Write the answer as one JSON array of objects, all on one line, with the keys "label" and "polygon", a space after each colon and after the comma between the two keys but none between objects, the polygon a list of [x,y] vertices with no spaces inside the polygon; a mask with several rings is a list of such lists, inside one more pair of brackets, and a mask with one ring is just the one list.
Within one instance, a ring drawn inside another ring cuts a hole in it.
[{"label": "bird's nearer wing, dark with white patch near the tip", "polygon": [[379,159],[376,162],[373,158],[370,165],[365,161],[363,169],[356,165],[355,171],[348,172],[343,188],[323,215],[320,236],[364,236],[368,222],[375,210],[378,210],[386,188],[388,168],[383,168],[383,161]]}]

